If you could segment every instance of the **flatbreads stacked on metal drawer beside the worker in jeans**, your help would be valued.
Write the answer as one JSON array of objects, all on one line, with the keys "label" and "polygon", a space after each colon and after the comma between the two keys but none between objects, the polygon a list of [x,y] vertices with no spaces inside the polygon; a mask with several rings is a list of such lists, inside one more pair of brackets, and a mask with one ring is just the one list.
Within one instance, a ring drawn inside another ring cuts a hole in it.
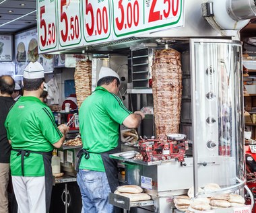
[{"label": "flatbreads stacked on metal drawer beside the worker in jeans", "polygon": [[117,187],[117,190],[114,193],[119,194],[120,196],[130,198],[130,202],[151,199],[148,194],[143,193],[143,189],[138,185],[122,185]]}]

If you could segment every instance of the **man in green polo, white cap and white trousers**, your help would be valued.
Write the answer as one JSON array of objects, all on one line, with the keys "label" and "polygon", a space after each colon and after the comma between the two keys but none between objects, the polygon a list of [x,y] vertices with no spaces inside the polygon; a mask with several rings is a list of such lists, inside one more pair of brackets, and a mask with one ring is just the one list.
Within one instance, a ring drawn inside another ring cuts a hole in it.
[{"label": "man in green polo, white cap and white trousers", "polygon": [[39,97],[44,89],[44,69],[30,62],[24,70],[24,95],[5,120],[11,144],[11,177],[20,213],[49,212],[53,175],[51,152],[65,140],[68,127],[57,128],[53,113]]}]

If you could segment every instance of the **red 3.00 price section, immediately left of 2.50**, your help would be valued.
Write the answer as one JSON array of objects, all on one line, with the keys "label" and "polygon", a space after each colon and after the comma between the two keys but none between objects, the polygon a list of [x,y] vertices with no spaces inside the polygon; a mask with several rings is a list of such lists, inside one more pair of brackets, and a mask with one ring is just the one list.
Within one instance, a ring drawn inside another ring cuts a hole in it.
[{"label": "red 3.00 price section, immediately left of 2.50", "polygon": [[115,35],[126,34],[143,26],[143,2],[140,0],[113,0],[113,24]]}]

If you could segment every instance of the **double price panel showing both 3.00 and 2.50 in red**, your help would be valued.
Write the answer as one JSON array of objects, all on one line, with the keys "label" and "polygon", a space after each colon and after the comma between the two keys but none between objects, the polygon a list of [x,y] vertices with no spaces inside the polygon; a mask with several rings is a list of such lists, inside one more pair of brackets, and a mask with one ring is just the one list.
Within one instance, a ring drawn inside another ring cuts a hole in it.
[{"label": "double price panel showing both 3.00 and 2.50 in red", "polygon": [[112,0],[117,38],[183,26],[183,0]]}]

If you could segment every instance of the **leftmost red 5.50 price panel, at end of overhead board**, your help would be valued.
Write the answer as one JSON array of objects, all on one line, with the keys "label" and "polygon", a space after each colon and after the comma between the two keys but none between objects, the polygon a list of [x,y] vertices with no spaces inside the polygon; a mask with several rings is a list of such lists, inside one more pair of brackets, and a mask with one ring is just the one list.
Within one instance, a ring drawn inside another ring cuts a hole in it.
[{"label": "leftmost red 5.50 price panel, at end of overhead board", "polygon": [[41,0],[37,3],[38,43],[39,52],[57,50],[57,19],[55,15],[55,1]]}]

